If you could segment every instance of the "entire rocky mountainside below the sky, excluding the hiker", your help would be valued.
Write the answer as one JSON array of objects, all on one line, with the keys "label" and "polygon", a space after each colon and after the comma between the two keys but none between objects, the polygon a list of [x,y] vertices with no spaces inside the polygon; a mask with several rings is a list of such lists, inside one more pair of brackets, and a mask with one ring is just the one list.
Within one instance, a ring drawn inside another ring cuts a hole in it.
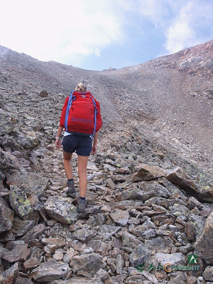
[{"label": "entire rocky mountainside below the sky, excluding the hiker", "polygon": [[[106,71],[0,47],[0,283],[213,282],[212,47]],[[79,81],[104,121],[85,215],[54,146]]]}]

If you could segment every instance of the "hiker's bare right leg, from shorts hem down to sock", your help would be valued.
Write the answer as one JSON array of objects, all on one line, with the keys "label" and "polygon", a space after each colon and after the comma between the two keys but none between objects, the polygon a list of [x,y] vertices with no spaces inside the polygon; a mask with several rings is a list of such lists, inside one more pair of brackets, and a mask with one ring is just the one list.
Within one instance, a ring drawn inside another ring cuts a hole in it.
[{"label": "hiker's bare right leg, from shorts hem down to sock", "polygon": [[86,189],[87,189],[87,162],[88,156],[78,156],[78,176],[79,176],[79,190],[80,197],[86,197]]}]

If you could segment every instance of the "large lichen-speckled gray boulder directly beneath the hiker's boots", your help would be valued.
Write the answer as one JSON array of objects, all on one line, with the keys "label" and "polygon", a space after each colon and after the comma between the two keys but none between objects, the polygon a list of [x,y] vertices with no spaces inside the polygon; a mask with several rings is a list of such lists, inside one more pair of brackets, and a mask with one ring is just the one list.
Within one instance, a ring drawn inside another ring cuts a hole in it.
[{"label": "large lichen-speckled gray boulder directly beneath the hiker's boots", "polygon": [[45,202],[45,213],[58,222],[66,225],[74,224],[78,218],[76,207],[71,203],[71,198],[51,196]]}]

